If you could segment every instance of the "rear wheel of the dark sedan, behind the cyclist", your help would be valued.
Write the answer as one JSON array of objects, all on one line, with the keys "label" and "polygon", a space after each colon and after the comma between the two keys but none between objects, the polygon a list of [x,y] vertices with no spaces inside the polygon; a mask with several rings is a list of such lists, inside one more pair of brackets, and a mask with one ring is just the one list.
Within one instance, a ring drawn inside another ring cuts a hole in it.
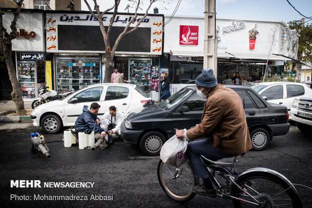
[{"label": "rear wheel of the dark sedan, behind the cyclist", "polygon": [[255,128],[250,132],[251,143],[253,150],[264,150],[270,142],[270,134],[264,128]]}]

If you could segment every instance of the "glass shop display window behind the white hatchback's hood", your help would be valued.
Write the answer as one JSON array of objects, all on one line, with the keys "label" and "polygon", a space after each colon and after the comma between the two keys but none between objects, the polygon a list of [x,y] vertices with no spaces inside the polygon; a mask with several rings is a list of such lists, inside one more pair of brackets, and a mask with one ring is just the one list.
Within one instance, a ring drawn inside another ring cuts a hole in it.
[{"label": "glass shop display window behind the white hatchback's hood", "polygon": [[79,90],[101,80],[100,56],[57,56],[57,91]]}]

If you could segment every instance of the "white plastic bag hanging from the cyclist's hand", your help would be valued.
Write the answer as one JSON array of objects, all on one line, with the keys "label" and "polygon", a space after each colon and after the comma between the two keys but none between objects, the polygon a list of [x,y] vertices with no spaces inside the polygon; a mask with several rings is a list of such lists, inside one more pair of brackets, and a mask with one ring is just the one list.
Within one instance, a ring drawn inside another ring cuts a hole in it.
[{"label": "white plastic bag hanging from the cyclist's hand", "polygon": [[189,161],[185,155],[188,142],[186,139],[177,139],[174,135],[171,137],[161,149],[161,159],[165,164],[176,168],[183,168]]}]

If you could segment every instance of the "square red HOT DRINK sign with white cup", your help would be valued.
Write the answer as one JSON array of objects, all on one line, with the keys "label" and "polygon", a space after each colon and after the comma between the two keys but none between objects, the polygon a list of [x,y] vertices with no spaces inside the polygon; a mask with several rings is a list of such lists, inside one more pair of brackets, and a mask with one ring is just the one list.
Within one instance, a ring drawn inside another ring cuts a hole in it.
[{"label": "square red HOT DRINK sign with white cup", "polygon": [[198,26],[180,25],[180,45],[198,45]]}]

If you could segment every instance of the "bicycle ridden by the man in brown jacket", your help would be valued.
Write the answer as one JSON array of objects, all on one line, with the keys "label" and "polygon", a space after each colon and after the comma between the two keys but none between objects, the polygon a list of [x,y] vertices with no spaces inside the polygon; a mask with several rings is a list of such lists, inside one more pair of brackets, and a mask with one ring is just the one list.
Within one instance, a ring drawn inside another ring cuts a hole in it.
[{"label": "bicycle ridden by the man in brown jacket", "polygon": [[[251,168],[237,174],[233,167],[238,156],[232,162],[201,158],[216,187],[217,196],[232,199],[235,207],[302,207],[294,185],[274,170]],[[171,199],[186,202],[196,195],[192,187],[199,184],[199,179],[194,175],[190,162],[179,169],[160,160],[157,175],[162,189]]]}]

